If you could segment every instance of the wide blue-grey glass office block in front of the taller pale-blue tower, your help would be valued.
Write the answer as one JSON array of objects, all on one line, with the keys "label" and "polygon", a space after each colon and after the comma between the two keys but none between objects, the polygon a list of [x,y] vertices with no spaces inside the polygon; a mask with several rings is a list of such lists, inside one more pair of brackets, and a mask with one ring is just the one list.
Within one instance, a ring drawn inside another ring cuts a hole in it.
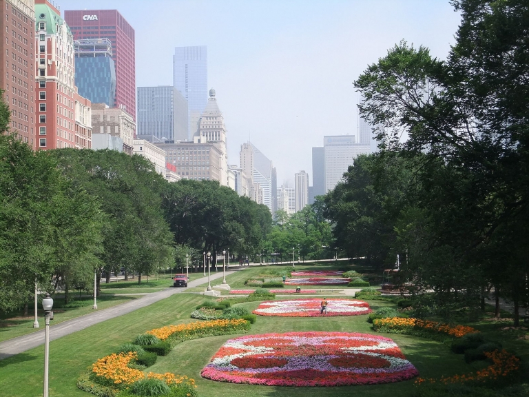
[{"label": "wide blue-grey glass office block in front of the taller pale-blue tower", "polygon": [[170,85],[138,87],[138,139],[185,141],[187,101]]}]

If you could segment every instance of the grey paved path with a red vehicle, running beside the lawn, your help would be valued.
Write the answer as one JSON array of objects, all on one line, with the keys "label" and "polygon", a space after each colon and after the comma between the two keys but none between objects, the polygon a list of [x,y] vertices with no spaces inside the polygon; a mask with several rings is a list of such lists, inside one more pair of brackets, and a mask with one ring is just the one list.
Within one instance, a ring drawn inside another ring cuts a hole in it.
[{"label": "grey paved path with a red vehicle, running beside the lawn", "polygon": [[[233,274],[236,271],[237,270],[227,271],[226,275]],[[222,272],[211,274],[211,280],[215,280],[216,278],[222,278]],[[187,283],[187,288],[198,287],[198,285],[204,283],[207,283],[207,277],[197,278],[194,281],[189,281],[189,283]],[[50,325],[50,340],[59,339],[65,335],[69,335],[73,332],[81,331],[81,329],[90,327],[90,325],[101,323],[105,320],[110,320],[110,318],[115,318],[118,316],[123,316],[123,314],[134,312],[134,310],[152,305],[153,303],[161,301],[162,299],[165,299],[171,295],[178,294],[178,292],[185,292],[187,288],[163,289],[163,291],[160,292],[146,294],[141,298],[135,299],[134,301],[129,301],[127,303],[109,307],[103,310],[97,310],[91,314],[85,314],[85,316],[72,318],[72,320],[63,321],[63,323],[59,323],[57,325]],[[33,349],[34,347],[43,345],[43,343],[44,327],[38,332],[33,332],[32,334],[5,340],[0,343],[0,360],[25,352],[26,350]]]}]

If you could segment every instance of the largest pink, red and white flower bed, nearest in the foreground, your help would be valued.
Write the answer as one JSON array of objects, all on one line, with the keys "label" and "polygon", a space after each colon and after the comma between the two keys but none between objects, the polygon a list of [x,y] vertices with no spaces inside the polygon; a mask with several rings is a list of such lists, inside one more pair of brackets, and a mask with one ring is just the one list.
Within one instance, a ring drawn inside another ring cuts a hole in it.
[{"label": "largest pink, red and white flower bed, nearest in the foreground", "polygon": [[346,332],[289,332],[228,340],[204,378],[268,386],[374,385],[419,373],[389,338]]}]

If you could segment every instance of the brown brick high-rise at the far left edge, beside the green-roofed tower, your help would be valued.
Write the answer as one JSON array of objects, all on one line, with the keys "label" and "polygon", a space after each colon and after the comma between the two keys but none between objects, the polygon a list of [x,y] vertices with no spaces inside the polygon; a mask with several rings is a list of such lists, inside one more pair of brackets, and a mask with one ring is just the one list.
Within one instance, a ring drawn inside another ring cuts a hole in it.
[{"label": "brown brick high-rise at the far left edge, beside the green-roofed tower", "polygon": [[34,150],[34,0],[0,2],[0,88],[11,111],[10,131]]}]

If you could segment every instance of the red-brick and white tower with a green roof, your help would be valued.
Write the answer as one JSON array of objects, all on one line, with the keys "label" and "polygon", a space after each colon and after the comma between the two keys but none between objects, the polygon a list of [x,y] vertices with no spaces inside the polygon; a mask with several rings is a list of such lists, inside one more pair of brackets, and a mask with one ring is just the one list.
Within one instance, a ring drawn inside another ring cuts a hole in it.
[{"label": "red-brick and white tower with a green roof", "polygon": [[76,147],[76,101],[90,105],[76,96],[72,32],[48,0],[35,1],[35,14],[38,148]]}]

